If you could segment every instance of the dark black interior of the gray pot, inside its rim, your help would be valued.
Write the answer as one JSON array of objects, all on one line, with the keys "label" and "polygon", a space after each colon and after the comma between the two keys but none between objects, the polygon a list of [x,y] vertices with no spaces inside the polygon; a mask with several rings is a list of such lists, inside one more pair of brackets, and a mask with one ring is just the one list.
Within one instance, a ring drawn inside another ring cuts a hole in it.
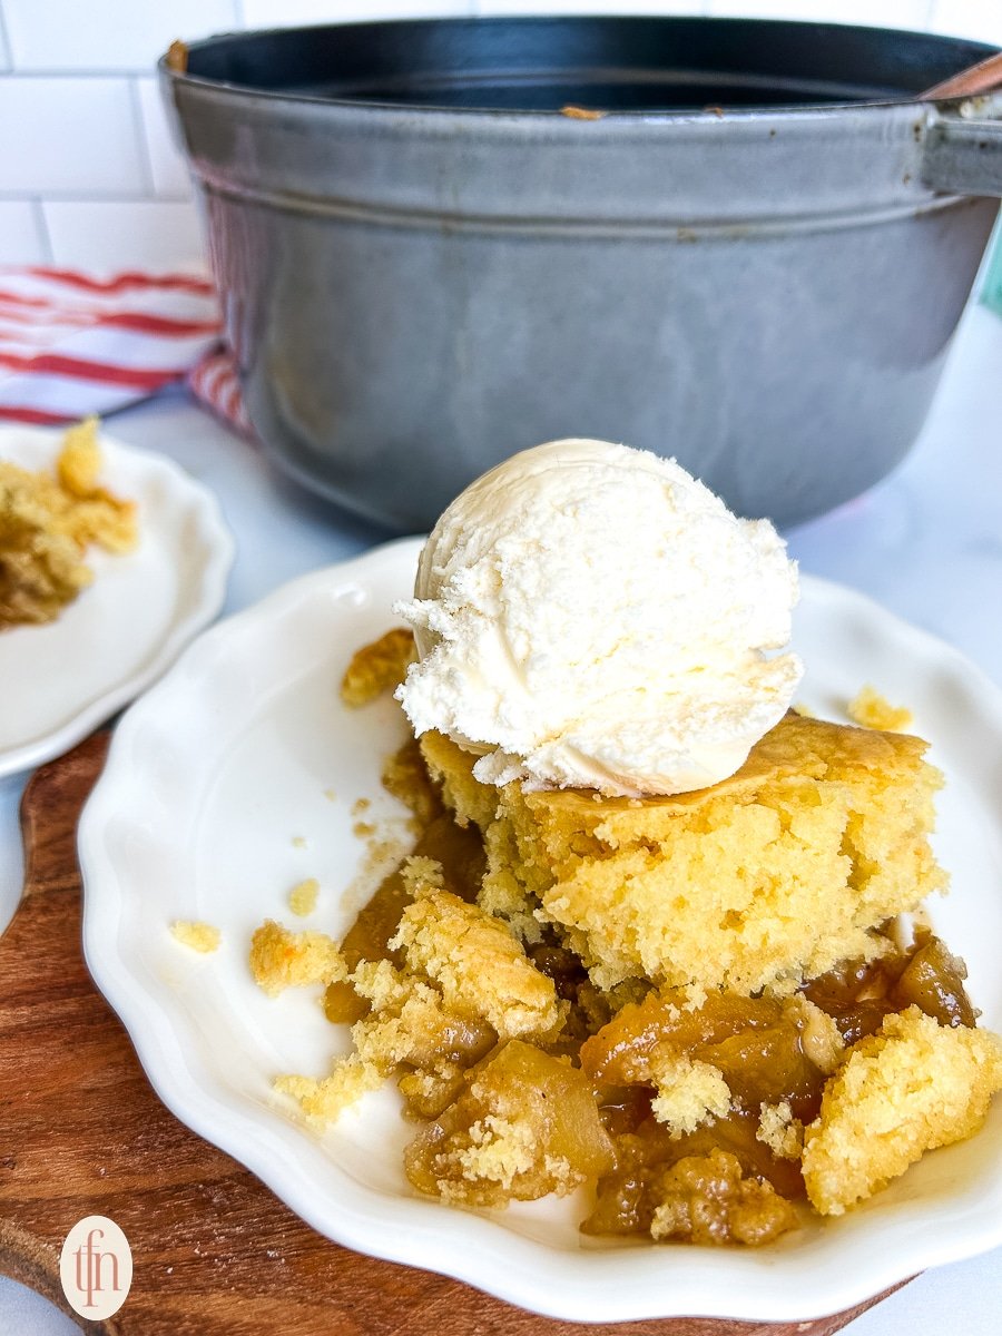
[{"label": "dark black interior of the gray pot, inside its rim", "polygon": [[286,28],[192,44],[187,73],[382,106],[612,112],[914,98],[991,48],[930,33],[748,19],[436,19]]}]

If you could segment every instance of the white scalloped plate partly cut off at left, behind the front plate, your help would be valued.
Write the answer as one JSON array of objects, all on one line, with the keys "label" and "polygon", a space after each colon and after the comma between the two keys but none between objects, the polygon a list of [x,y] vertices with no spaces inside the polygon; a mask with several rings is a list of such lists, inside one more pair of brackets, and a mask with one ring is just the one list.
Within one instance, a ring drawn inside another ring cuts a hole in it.
[{"label": "white scalloped plate partly cut off at left, behind the front plate", "polygon": [[[0,428],[0,460],[39,470],[63,433]],[[162,456],[102,433],[102,478],[139,506],[139,545],[91,548],[95,578],[41,627],[0,633],[0,775],[59,756],[128,704],[220,609],[232,538],[211,493]]]}]

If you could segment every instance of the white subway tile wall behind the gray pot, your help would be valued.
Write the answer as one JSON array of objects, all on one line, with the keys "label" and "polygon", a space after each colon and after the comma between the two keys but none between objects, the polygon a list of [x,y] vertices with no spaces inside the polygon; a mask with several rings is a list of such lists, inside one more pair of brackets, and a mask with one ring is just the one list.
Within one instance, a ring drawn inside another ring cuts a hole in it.
[{"label": "white subway tile wall behind the gray pot", "polygon": [[154,73],[175,37],[379,17],[760,15],[1002,45],[1002,0],[0,0],[0,265],[95,273],[204,255]]}]

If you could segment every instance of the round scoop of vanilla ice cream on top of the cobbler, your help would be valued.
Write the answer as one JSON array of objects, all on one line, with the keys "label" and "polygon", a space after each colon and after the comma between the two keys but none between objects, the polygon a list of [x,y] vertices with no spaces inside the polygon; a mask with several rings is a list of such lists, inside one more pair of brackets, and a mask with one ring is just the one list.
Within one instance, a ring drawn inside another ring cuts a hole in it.
[{"label": "round scoop of vanilla ice cream on top of the cobbler", "polygon": [[605,441],[516,454],[421,554],[415,732],[480,752],[484,783],[640,796],[732,775],[786,712],[796,566],[673,460]]}]

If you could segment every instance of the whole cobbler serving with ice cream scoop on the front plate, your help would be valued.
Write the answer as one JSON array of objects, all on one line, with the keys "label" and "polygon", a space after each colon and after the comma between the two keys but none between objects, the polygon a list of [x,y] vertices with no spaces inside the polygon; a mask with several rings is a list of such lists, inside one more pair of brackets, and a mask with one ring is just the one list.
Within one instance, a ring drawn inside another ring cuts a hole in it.
[{"label": "whole cobbler serving with ice cream scoop on the front plate", "polygon": [[413,852],[341,942],[263,925],[387,1078],[411,1185],[587,1192],[589,1234],[768,1244],[977,1132],[1002,1043],[908,915],[946,872],[926,744],[791,709],[796,569],[672,461],[550,442],[445,512],[342,693],[395,687]]}]

